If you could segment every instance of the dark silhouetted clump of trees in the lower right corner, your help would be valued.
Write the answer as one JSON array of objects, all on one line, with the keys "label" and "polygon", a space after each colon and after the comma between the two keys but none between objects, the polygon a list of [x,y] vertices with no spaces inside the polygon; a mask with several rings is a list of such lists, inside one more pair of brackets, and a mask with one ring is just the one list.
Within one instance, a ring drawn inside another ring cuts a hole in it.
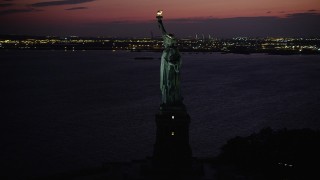
[{"label": "dark silhouetted clump of trees in the lower right corner", "polygon": [[218,179],[318,179],[320,132],[270,128],[222,147]]}]

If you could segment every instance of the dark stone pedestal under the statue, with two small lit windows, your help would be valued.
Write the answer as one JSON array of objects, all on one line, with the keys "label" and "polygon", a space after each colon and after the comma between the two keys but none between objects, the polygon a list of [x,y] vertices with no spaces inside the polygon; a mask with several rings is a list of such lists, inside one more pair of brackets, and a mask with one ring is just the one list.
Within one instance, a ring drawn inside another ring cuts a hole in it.
[{"label": "dark stone pedestal under the statue, with two small lit windows", "polygon": [[190,116],[181,105],[161,105],[156,114],[156,143],[153,163],[160,169],[191,168]]}]

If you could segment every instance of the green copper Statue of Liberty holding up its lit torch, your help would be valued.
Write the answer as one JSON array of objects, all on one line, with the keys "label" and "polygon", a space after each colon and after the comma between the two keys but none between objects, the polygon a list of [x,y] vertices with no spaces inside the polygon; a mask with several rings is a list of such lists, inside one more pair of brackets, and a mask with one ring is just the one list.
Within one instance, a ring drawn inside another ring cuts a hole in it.
[{"label": "green copper Statue of Liberty holding up its lit torch", "polygon": [[157,12],[158,25],[162,32],[163,50],[160,67],[160,90],[162,104],[175,106],[182,104],[180,87],[181,56],[177,47],[177,40],[168,34],[162,24],[162,11]]}]

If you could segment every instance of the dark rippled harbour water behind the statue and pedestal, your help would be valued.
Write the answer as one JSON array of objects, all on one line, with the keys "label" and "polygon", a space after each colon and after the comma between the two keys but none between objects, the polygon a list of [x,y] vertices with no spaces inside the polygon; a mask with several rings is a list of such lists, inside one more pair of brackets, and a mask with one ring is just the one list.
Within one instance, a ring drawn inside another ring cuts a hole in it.
[{"label": "dark rippled harbour water behind the statue and pedestal", "polygon": [[[152,155],[160,53],[0,55],[2,174],[40,176]],[[320,128],[319,56],[182,58],[194,156],[215,156],[229,138],[267,126]]]}]

